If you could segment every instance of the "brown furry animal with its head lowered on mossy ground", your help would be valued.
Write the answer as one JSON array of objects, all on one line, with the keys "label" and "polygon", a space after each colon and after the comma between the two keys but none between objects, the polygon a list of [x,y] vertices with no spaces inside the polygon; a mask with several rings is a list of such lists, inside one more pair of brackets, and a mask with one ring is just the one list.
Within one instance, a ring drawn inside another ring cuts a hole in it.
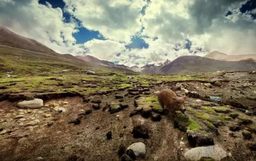
[{"label": "brown furry animal with its head lowered on mossy ground", "polygon": [[186,110],[183,107],[185,96],[178,97],[175,92],[170,89],[160,91],[158,94],[158,101],[163,109],[167,108],[171,113],[174,113],[175,111],[184,113]]}]

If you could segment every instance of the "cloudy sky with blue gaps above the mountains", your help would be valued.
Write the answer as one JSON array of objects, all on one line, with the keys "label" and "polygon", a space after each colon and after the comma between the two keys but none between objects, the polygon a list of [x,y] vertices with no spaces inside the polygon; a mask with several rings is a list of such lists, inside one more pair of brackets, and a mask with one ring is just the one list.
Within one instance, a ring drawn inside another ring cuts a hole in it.
[{"label": "cloudy sky with blue gaps above the mountains", "polygon": [[129,66],[256,54],[255,0],[0,0],[0,15],[1,26],[56,52]]}]

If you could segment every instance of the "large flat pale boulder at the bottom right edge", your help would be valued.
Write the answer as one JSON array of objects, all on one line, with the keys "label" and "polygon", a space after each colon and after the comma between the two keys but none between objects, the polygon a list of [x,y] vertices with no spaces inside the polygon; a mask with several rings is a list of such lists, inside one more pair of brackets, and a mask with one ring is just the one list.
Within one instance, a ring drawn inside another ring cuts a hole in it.
[{"label": "large flat pale boulder at the bottom right edge", "polygon": [[227,152],[219,146],[200,146],[190,149],[185,153],[188,160],[200,160],[202,157],[210,157],[215,160],[221,160],[227,157]]}]

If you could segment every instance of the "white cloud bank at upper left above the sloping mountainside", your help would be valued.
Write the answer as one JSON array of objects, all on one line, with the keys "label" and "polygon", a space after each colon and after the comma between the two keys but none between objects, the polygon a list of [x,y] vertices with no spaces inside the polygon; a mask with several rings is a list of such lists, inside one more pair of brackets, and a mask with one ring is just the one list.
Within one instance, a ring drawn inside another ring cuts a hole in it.
[{"label": "white cloud bank at upper left above the sloping mountainside", "polygon": [[75,44],[73,33],[76,23],[65,23],[60,8],[39,4],[34,0],[4,0],[0,5],[0,25],[12,31],[36,39],[57,52],[81,52]]}]

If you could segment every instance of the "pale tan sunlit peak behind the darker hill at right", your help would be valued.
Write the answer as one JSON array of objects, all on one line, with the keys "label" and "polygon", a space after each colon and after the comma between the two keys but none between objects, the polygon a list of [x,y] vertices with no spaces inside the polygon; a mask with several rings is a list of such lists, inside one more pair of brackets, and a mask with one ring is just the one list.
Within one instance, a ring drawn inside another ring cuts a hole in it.
[{"label": "pale tan sunlit peak behind the darker hill at right", "polygon": [[206,58],[216,59],[220,61],[242,61],[247,59],[252,59],[256,61],[256,53],[255,54],[246,54],[246,55],[226,55],[226,53],[221,53],[219,51],[213,51],[208,53]]}]

